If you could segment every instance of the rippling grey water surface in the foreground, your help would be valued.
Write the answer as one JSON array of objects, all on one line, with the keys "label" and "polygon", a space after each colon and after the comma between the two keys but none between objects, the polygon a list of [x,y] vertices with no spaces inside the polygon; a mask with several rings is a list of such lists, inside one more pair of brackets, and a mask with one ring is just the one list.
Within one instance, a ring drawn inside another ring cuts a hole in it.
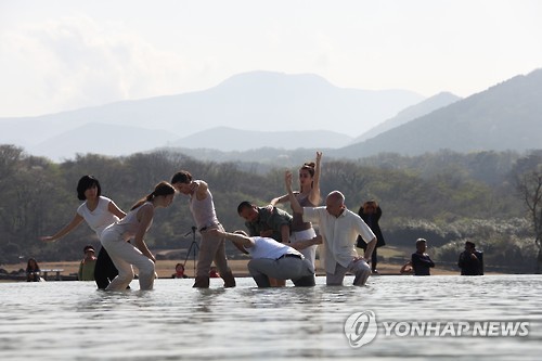
[{"label": "rippling grey water surface in the foreground", "polygon": [[[140,292],[92,282],[0,283],[0,360],[540,360],[542,276],[373,276],[367,286],[224,289],[157,280]],[[288,282],[288,285],[291,283]],[[345,321],[373,311],[378,334],[349,346]],[[528,321],[525,337],[401,337],[383,322]]]}]

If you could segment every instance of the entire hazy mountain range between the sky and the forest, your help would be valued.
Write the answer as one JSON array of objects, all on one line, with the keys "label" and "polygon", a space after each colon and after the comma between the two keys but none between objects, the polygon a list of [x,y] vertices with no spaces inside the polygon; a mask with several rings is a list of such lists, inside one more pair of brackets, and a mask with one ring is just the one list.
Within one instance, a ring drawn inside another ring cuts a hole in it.
[{"label": "entire hazy mountain range between the sky and the forest", "polygon": [[0,143],[53,160],[157,147],[214,150],[205,154],[220,153],[221,160],[254,160],[243,152],[261,147],[275,147],[275,156],[266,151],[275,159],[301,147],[346,158],[441,149],[525,151],[542,144],[541,99],[542,69],[464,100],[447,92],[424,100],[405,90],[341,89],[314,75],[255,72],[202,92],[0,118]]}]

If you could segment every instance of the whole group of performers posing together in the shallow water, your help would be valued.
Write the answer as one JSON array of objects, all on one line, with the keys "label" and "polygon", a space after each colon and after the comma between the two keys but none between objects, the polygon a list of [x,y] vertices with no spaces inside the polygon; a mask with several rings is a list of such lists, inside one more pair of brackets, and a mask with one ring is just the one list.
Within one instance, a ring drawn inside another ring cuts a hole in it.
[{"label": "whole group of performers posing together in the shallow water", "polygon": [[[59,232],[41,240],[56,241],[86,221],[102,244],[94,259],[98,287],[126,289],[134,279],[133,267],[137,267],[140,288],[152,289],[156,259],[144,237],[156,209],[168,207],[176,193],[180,193],[189,197],[190,210],[201,234],[194,287],[209,287],[212,262],[224,281],[224,287],[235,286],[225,256],[227,240],[251,256],[248,271],[260,287],[281,286],[286,280],[298,286],[313,286],[318,245],[321,245],[326,284],[340,285],[346,273],[350,272],[354,274],[354,285],[364,285],[372,272],[369,263],[377,243],[376,236],[359,215],[346,208],[345,196],[339,191],[331,192],[325,205],[320,206],[321,159],[322,153],[317,152],[315,162],[300,167],[298,191],[293,190],[293,175],[286,171],[286,194],[271,199],[267,207],[242,202],[237,211],[245,219],[247,232],[228,232],[223,228],[209,185],[204,180],[193,179],[188,170],[176,172],[170,182],[156,184],[128,212],[102,195],[98,179],[83,176],[77,184],[77,196],[83,203],[74,218]],[[289,203],[293,216],[278,208],[280,203]],[[320,227],[318,235],[312,222]],[[359,242],[366,244],[363,256],[358,256],[356,250],[358,237],[362,240]],[[91,252],[93,254],[94,249]]]}]

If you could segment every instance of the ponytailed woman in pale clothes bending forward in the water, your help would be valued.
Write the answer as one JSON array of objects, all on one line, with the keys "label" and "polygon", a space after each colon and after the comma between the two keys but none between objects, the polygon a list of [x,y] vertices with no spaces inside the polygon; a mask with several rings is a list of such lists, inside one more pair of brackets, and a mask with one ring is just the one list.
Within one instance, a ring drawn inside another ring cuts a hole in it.
[{"label": "ponytailed woman in pale clothes bending forward in the water", "polygon": [[122,220],[104,230],[102,245],[118,269],[118,275],[106,291],[126,289],[134,276],[132,266],[139,270],[140,289],[153,288],[156,259],[143,237],[153,223],[154,209],[169,206],[173,197],[175,188],[168,182],[160,182],[151,194],[138,201]]}]

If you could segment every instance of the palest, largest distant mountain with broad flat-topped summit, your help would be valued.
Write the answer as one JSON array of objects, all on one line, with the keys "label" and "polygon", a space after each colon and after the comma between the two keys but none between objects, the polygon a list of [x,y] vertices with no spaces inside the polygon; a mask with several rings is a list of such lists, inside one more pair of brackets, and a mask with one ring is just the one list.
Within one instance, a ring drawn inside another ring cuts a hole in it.
[{"label": "palest, largest distant mountain with broad flat-topped summit", "polygon": [[[55,137],[65,137],[69,131],[75,144],[85,142],[85,134],[77,129],[89,124],[116,126],[103,128],[103,131],[118,131],[116,139],[127,137],[121,129],[131,133],[128,128],[119,127],[165,131],[177,139],[217,127],[247,131],[327,130],[353,138],[423,99],[408,90],[338,88],[311,74],[253,72],[233,76],[205,91],[38,117],[0,118],[0,143],[13,143],[44,152],[36,155],[53,157],[47,146],[38,144],[57,142]],[[139,151],[152,149],[147,138],[136,133],[131,137],[134,137],[131,142],[141,146]],[[168,140],[169,137],[163,145],[168,145]],[[262,138],[261,145],[273,146],[275,141]],[[92,153],[109,153],[106,145],[95,142]],[[74,153],[66,145],[62,156],[70,157]]]}]

